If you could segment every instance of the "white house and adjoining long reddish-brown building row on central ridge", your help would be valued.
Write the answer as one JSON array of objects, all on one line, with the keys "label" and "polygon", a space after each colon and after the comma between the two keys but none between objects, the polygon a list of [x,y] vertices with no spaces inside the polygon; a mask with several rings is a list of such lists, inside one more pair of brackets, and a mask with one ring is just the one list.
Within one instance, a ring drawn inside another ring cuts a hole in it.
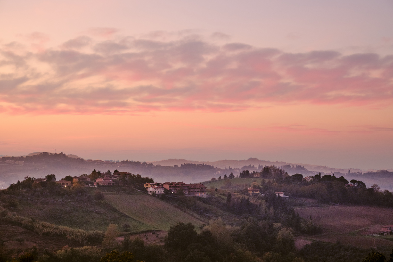
[{"label": "white house and adjoining long reddish-brown building row on central ridge", "polygon": [[161,186],[158,183],[145,183],[143,187],[149,194],[163,194],[165,189],[170,192],[182,190],[185,196],[206,197],[206,187],[203,184],[186,184],[184,182],[165,182]]}]

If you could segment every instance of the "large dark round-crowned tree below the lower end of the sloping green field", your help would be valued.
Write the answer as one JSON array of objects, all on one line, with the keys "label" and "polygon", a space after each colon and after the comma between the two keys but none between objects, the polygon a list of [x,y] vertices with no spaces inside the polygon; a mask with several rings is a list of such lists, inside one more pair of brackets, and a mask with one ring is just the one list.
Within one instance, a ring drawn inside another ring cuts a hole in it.
[{"label": "large dark round-crowned tree below the lower end of the sloping green field", "polygon": [[191,223],[178,222],[169,228],[165,237],[165,246],[169,249],[185,250],[196,238],[195,227]]}]

